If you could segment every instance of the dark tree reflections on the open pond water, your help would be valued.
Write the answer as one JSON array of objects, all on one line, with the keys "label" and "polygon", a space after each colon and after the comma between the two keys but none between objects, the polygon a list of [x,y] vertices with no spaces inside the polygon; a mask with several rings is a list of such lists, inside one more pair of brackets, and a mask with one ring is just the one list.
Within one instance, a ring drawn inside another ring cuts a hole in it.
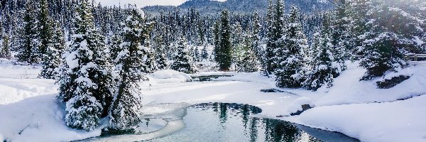
[{"label": "dark tree reflections on the open pond water", "polygon": [[[262,112],[262,109],[251,106],[249,104],[229,104],[229,103],[207,103],[197,104],[193,107],[202,109],[212,109],[219,116],[219,123],[226,128],[226,121],[229,119],[228,116],[239,116],[241,122],[244,124],[244,133],[248,136],[249,141],[300,141],[300,138],[304,137],[304,133],[297,129],[296,126],[286,121],[280,121],[275,119],[262,119],[262,118],[251,118],[251,114],[258,114]],[[260,128],[264,129],[264,131]],[[265,139],[259,138],[259,133],[265,134]],[[305,133],[307,134],[307,133]],[[310,142],[318,141],[312,136],[307,135],[307,139]]]}]

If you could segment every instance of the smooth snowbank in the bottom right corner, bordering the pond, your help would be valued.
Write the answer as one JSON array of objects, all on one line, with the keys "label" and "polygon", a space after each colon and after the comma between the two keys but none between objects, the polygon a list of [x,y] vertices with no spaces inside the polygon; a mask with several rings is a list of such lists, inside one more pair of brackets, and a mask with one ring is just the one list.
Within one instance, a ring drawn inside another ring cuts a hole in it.
[{"label": "smooth snowbank in the bottom right corner, bordering the pond", "polygon": [[405,101],[317,107],[300,124],[339,131],[361,141],[426,141],[426,95]]}]

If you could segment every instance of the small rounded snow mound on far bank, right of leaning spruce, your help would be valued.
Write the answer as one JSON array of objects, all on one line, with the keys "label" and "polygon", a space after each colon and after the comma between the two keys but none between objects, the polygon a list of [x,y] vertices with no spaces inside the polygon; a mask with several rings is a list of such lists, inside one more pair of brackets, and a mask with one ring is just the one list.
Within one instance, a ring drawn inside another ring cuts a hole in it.
[{"label": "small rounded snow mound on far bank, right of leaning spruce", "polygon": [[175,82],[190,82],[192,77],[175,70],[159,70],[148,75],[151,84],[166,84]]}]

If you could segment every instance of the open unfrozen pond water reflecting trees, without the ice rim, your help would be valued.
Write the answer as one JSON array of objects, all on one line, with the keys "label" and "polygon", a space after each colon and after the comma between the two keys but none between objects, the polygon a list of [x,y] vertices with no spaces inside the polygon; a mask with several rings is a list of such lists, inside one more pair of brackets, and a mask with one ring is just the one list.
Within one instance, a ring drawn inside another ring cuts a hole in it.
[{"label": "open unfrozen pond water reflecting trees, without the ice rim", "polygon": [[358,141],[342,133],[251,117],[261,111],[247,104],[197,104],[187,109],[185,129],[150,141]]}]

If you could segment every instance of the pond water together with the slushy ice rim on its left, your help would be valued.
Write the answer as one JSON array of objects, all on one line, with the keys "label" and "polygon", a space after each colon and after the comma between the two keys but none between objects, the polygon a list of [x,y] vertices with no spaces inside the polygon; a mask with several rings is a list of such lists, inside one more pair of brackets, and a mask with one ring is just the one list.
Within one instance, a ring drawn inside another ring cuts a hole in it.
[{"label": "pond water together with the slushy ice rim on its left", "polygon": [[262,110],[247,104],[178,106],[180,109],[170,109],[173,104],[154,106],[152,110],[168,108],[170,111],[148,114],[156,119],[143,123],[140,129],[150,130],[146,133],[104,134],[86,141],[358,141],[342,133],[312,129],[276,119],[251,117]]}]

